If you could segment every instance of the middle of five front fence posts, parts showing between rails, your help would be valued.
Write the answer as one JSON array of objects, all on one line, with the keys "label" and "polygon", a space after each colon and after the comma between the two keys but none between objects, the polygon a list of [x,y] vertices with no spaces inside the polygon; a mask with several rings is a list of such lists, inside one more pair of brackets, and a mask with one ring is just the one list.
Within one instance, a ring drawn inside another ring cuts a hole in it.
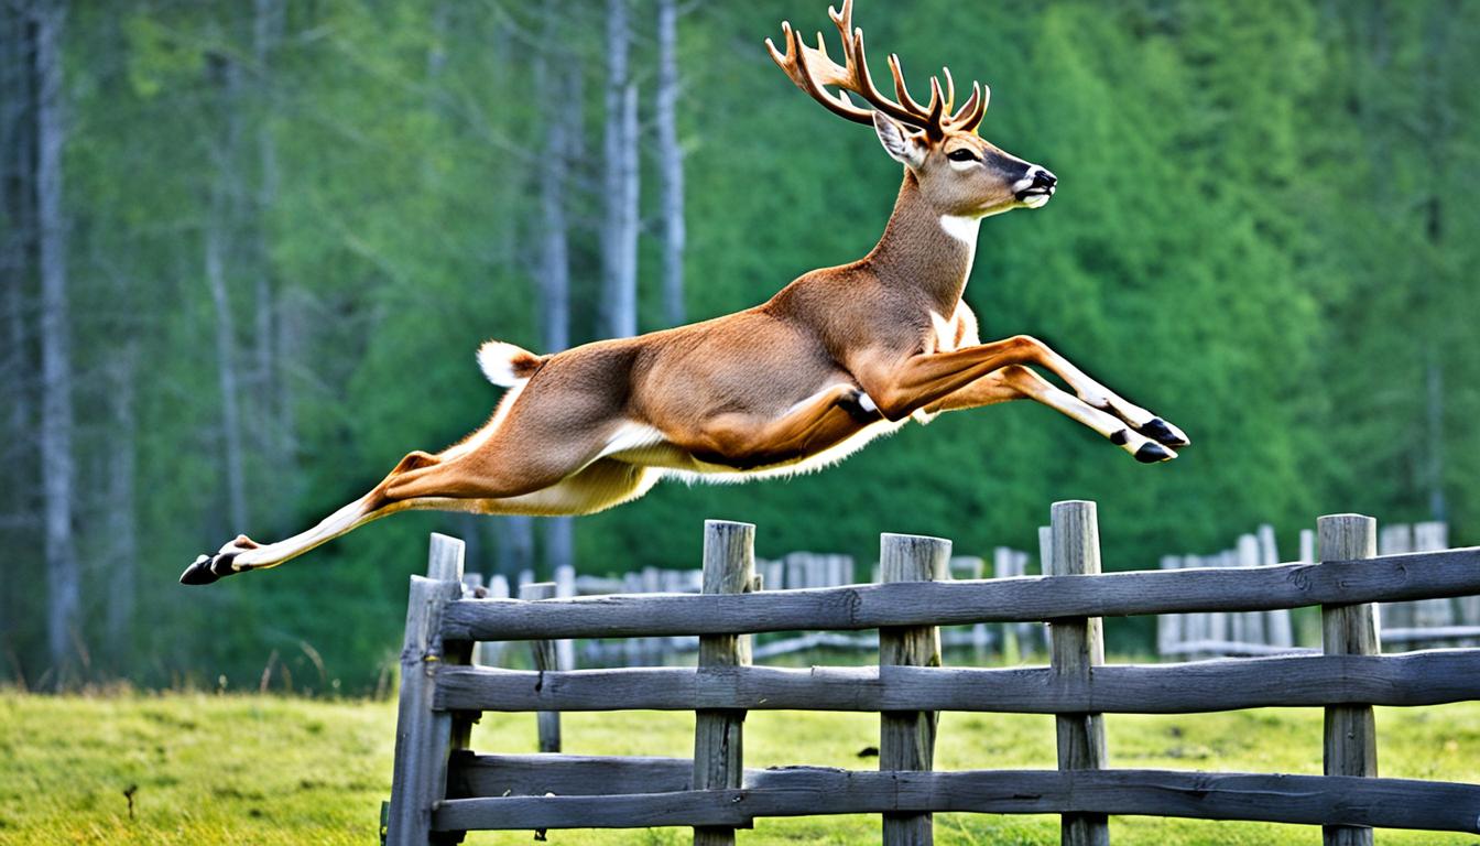
[{"label": "middle of five front fence posts, parts showing between rails", "polygon": [[[879,575],[885,582],[950,578],[950,541],[919,535],[879,538]],[[934,625],[881,628],[879,665],[940,667],[940,630]],[[929,770],[935,762],[934,711],[879,714],[879,770]],[[884,846],[935,842],[929,813],[885,813]]]}]

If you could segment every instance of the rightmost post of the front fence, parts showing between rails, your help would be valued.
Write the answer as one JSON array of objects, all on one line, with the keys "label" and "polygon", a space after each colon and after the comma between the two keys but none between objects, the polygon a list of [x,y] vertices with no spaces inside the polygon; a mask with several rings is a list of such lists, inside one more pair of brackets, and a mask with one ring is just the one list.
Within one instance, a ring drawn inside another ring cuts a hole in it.
[{"label": "rightmost post of the front fence, parts showing between rails", "polygon": [[[1331,514],[1316,520],[1320,559],[1370,559],[1378,550],[1378,522],[1360,514]],[[1326,655],[1376,655],[1378,627],[1372,603],[1320,607]],[[1326,708],[1326,775],[1378,773],[1376,722],[1372,705]],[[1326,846],[1372,846],[1372,830],[1360,825],[1326,825]]]}]

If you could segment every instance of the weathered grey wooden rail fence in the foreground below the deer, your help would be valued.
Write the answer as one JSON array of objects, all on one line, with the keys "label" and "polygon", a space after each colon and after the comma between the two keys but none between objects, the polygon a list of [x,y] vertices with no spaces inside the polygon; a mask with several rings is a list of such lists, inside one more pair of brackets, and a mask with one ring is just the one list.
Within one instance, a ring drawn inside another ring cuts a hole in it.
[{"label": "weathered grey wooden rail fence in the foreground below the deer", "polygon": [[[1372,705],[1480,698],[1480,649],[1382,656],[1375,602],[1480,593],[1480,550],[1373,559],[1375,520],[1322,517],[1323,563],[1100,573],[1092,502],[1058,502],[1051,575],[938,581],[950,544],[885,535],[884,584],[756,591],[753,526],[709,522],[702,594],[463,599],[457,541],[413,576],[401,655],[389,843],[466,830],[693,827],[733,843],[758,816],[879,813],[885,843],[929,843],[934,812],[1058,813],[1066,843],[1107,843],[1109,815],[1480,833],[1480,785],[1378,778]],[[1325,653],[1106,665],[1101,616],[1320,606]],[[1048,621],[1052,662],[940,667],[937,625]],[[879,630],[878,667],[753,667],[749,634]],[[700,636],[699,667],[514,671],[474,642]],[[1109,769],[1107,713],[1323,707],[1323,776]],[[468,748],[482,711],[696,711],[693,759],[511,756]],[[878,711],[879,772],[747,770],[747,710]],[[935,713],[1055,714],[1057,770],[932,772]]]}]

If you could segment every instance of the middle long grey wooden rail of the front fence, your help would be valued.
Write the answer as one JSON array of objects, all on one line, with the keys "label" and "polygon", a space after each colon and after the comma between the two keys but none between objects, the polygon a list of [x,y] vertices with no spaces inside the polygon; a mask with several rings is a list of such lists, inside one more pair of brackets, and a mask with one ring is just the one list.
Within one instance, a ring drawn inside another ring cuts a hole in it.
[{"label": "middle long grey wooden rail of the front fence", "polygon": [[1193,664],[1114,664],[1089,679],[1049,668],[644,667],[539,673],[444,667],[440,708],[616,711],[992,711],[1188,714],[1336,704],[1439,705],[1480,699],[1480,649],[1295,655]]}]

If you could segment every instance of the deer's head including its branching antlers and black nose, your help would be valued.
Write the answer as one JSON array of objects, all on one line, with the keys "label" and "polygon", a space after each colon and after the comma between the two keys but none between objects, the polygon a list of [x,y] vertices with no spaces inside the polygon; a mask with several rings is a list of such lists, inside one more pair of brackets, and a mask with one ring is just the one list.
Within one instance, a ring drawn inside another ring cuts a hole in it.
[{"label": "deer's head including its branching antlers and black nose", "polygon": [[[771,59],[796,87],[839,117],[873,126],[891,157],[909,167],[921,196],[941,215],[983,218],[1009,209],[1036,209],[1054,196],[1058,179],[1048,169],[999,150],[977,136],[977,126],[987,111],[990,89],[971,83],[971,96],[955,110],[956,84],[949,68],[944,90],[940,77],[929,80],[929,104],[921,105],[904,86],[900,58],[889,56],[895,99],[884,96],[869,77],[863,49],[863,30],[852,27],[852,0],[842,12],[827,7],[827,15],[842,36],[844,64],[827,56],[823,34],[817,46],[802,41],[789,22],[781,24],[786,52],[765,40]],[[829,92],[838,87],[838,93]],[[848,93],[863,98],[872,108],[854,105]]]}]

